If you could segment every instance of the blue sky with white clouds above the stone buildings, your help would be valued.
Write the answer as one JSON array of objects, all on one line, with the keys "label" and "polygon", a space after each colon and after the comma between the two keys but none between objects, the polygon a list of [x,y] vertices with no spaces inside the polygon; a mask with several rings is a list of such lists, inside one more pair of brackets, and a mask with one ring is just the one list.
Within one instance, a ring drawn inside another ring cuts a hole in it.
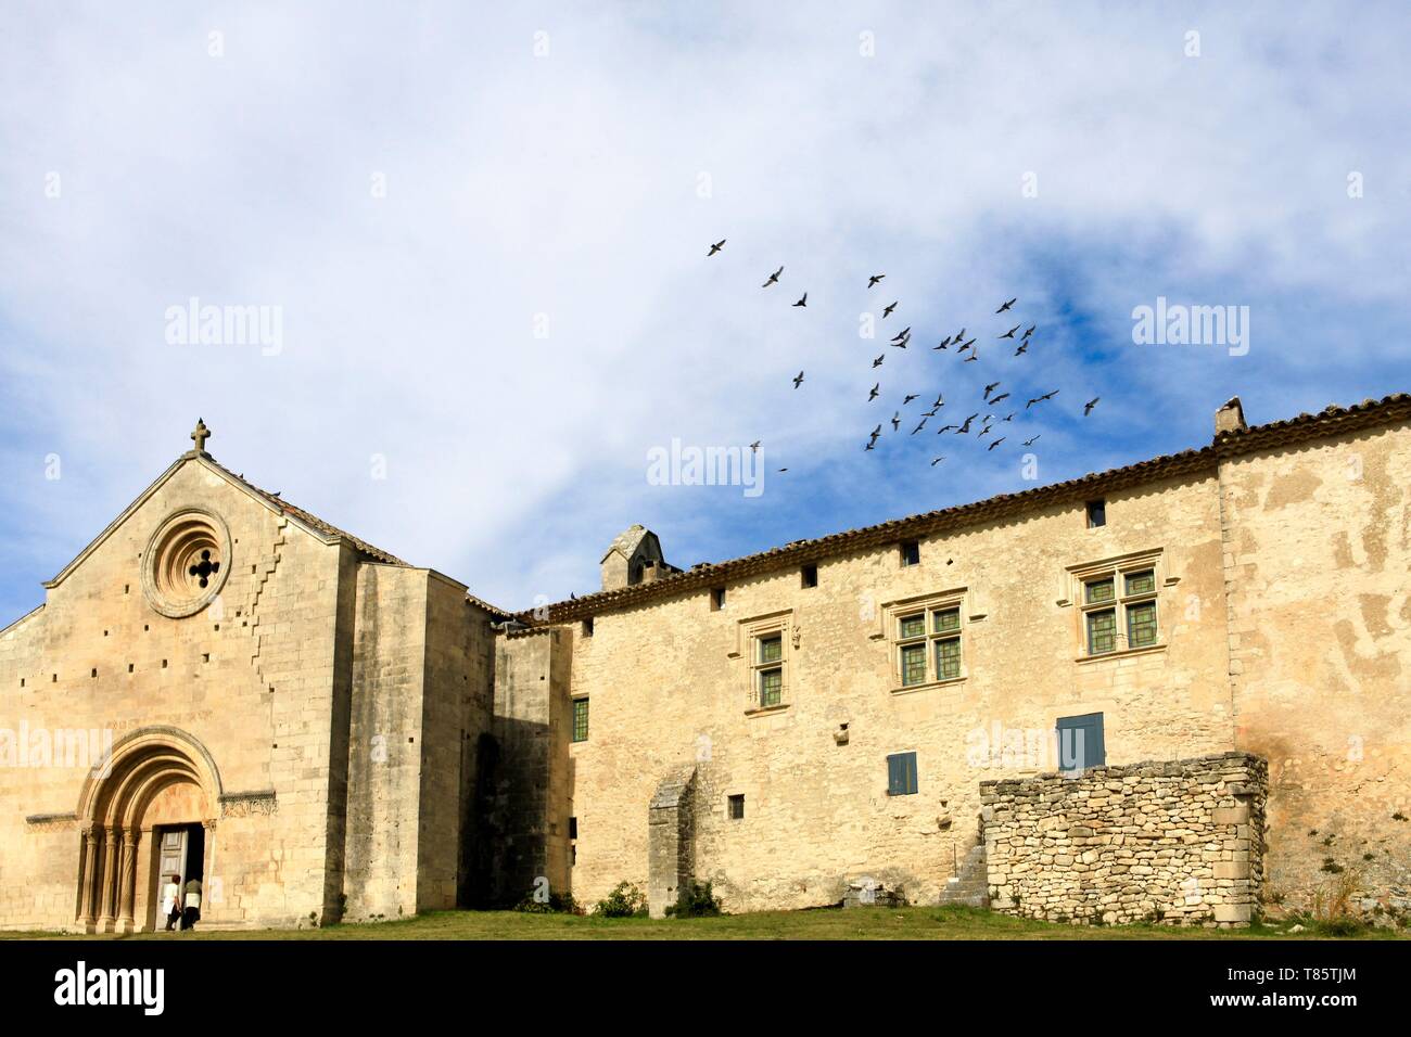
[{"label": "blue sky with white clouds above the stone buildings", "polygon": [[[1199,446],[1235,394],[1411,389],[1404,4],[763,7],[13,6],[0,622],[198,415],[233,470],[528,607],[632,522],[690,566]],[[172,344],[192,296],[278,308],[278,353]],[[986,348],[1010,296],[1017,358]],[[1157,296],[1247,306],[1249,351],[1134,344]],[[930,350],[961,326],[974,364]],[[995,380],[1060,395],[993,451],[931,435]],[[903,392],[947,405],[864,453]],[[650,485],[672,439],[762,440],[763,492]]]}]

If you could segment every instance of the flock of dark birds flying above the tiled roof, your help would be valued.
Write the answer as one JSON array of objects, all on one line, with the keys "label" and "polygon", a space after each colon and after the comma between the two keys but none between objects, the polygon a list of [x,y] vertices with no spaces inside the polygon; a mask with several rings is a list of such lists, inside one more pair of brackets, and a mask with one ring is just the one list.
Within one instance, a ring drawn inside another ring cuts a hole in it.
[{"label": "flock of dark birds flying above the tiled roof", "polygon": [[[725,240],[724,238],[721,238],[720,241],[715,241],[710,247],[710,251],[707,253],[707,258],[710,258],[711,255],[715,255],[724,247],[725,247]],[[763,282],[763,285],[761,285],[761,288],[772,288],[773,285],[777,285],[779,284],[779,278],[783,275],[783,272],[785,272],[783,267],[780,267],[779,269],[776,269],[773,274],[770,274],[765,279],[765,282]],[[883,279],[886,279],[886,274],[873,274],[872,277],[869,277],[868,278],[868,291],[876,288],[879,284],[882,284]],[[1016,302],[1019,302],[1017,298],[1009,299],[1007,302],[1002,303],[999,309],[995,310],[995,315],[999,316],[999,315],[1003,315],[1003,313],[1010,313]],[[794,306],[807,308],[809,306],[809,293],[804,292],[799,298],[799,302],[796,302],[793,305]],[[892,303],[888,303],[886,306],[883,306],[882,308],[882,319],[886,320],[889,316],[892,316],[892,313],[896,310],[897,306],[899,306],[899,302],[892,302]],[[1015,343],[1017,346],[1017,348],[1015,350],[1015,356],[1016,357],[1024,356],[1029,351],[1029,347],[1033,344],[1033,340],[1031,340],[1030,336],[1033,336],[1033,333],[1037,330],[1037,326],[1036,325],[1030,325],[1029,327],[1024,327],[1023,333],[1019,334],[1019,337],[1016,339],[1016,334],[1019,333],[1020,327],[1023,327],[1023,322],[1015,325],[1007,332],[1003,332],[1002,334],[995,336],[995,339],[992,341],[989,341],[988,346],[993,346],[996,341],[1009,340],[1009,341],[1012,341],[1012,343]],[[978,363],[979,361],[978,336],[972,336],[972,337],[967,339],[965,337],[967,330],[968,329],[962,327],[958,334],[948,334],[948,336],[945,336],[945,339],[941,340],[941,343],[938,346],[933,346],[931,350],[935,350],[935,351],[948,351],[954,346],[955,347],[955,353],[952,356],[958,357],[962,353],[969,353],[969,356],[965,357],[965,360],[962,360],[961,363],[964,363],[964,364]],[[903,327],[900,332],[897,332],[896,336],[892,337],[892,341],[889,341],[888,346],[904,350],[907,346],[910,346],[910,343],[912,343],[912,329],[910,327]],[[882,367],[886,363],[886,357],[888,357],[886,350],[882,350],[882,353],[872,361],[873,370],[878,368],[878,367]],[[797,389],[800,385],[803,385],[803,382],[804,382],[804,372],[799,371],[799,374],[794,375],[794,378],[793,378],[793,387],[794,387],[794,389]],[[985,387],[985,394],[983,394],[983,398],[982,398],[982,402],[983,402],[985,408],[993,408],[995,405],[1002,404],[1003,401],[1006,401],[1006,399],[1010,398],[1012,394],[1007,389],[1005,392],[998,392],[996,394],[996,389],[999,389],[999,388],[1003,388],[1003,382],[999,381],[999,380],[992,381],[992,382],[989,382]],[[882,395],[882,382],[880,382],[880,380],[878,380],[876,382],[873,382],[872,388],[868,391],[868,402],[871,404],[872,401],[878,399],[880,395]],[[1027,412],[1033,406],[1037,406],[1040,404],[1047,404],[1048,401],[1051,401],[1057,395],[1058,395],[1058,389],[1051,389],[1050,392],[1044,392],[1043,395],[1034,396],[1033,399],[1029,399],[1024,404],[1024,411]],[[921,399],[921,394],[917,394],[917,392],[904,394],[904,398],[902,399],[902,408],[910,405],[912,402],[914,402],[917,399]],[[1092,399],[1089,399],[1086,404],[1082,405],[1082,415],[1084,415],[1084,418],[1086,418],[1088,415],[1092,413],[1092,409],[1098,405],[1099,399],[1101,399],[1099,396],[1094,396]],[[912,429],[910,435],[916,436],[917,433],[920,433],[921,430],[924,430],[926,429],[926,423],[930,419],[935,418],[940,413],[940,411],[941,411],[943,406],[945,406],[945,396],[944,396],[944,394],[938,392],[938,394],[935,394],[935,402],[931,404],[931,409],[921,412],[921,415],[920,415],[921,420],[917,422],[916,427]],[[1010,406],[1013,406],[1013,404]],[[978,442],[978,440],[985,439],[985,436],[991,435],[995,430],[996,425],[1003,425],[1006,422],[1013,422],[1016,415],[1017,415],[1017,411],[1010,411],[1009,413],[1006,413],[1003,416],[1000,416],[998,411],[989,411],[982,418],[981,416],[981,411],[976,411],[975,413],[968,415],[959,423],[943,425],[935,432],[937,432],[937,435],[951,433],[951,435],[955,435],[955,436],[967,436],[967,435],[969,435],[971,427],[974,426],[974,423],[976,420],[979,420],[981,422],[981,427],[975,433],[975,439]],[[878,440],[883,435],[882,429],[888,423],[892,425],[892,432],[893,433],[899,433],[902,430],[902,409],[900,408],[897,408],[892,413],[890,419],[878,422],[876,427],[872,429],[871,433],[868,433],[866,443],[862,447],[864,450],[875,450],[876,449]],[[996,436],[993,440],[991,440],[989,446],[986,447],[986,453],[995,450],[995,447],[998,447],[1000,443],[1003,443],[1007,439],[1009,439],[1007,435],[1005,435],[1005,436]],[[1038,440],[1038,435],[1034,435],[1030,439],[1023,440],[1023,446],[1026,446],[1026,447],[1033,446],[1036,440]],[[759,450],[759,444],[761,444],[761,440],[755,440],[753,443],[749,444],[749,449],[758,451]],[[937,464],[940,464],[944,460],[945,460],[944,456],[935,457],[931,461],[931,467],[935,467]],[[787,468],[780,468],[779,471],[789,471],[789,470]]]}]

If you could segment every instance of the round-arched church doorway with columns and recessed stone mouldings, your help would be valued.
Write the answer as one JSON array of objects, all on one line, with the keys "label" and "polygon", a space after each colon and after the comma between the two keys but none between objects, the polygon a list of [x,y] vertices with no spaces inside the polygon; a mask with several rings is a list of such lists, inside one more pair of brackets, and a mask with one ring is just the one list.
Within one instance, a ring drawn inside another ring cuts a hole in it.
[{"label": "round-arched church doorway with columns and recessed stone mouldings", "polygon": [[190,735],[144,728],[117,742],[79,801],[78,926],[164,927],[159,892],[169,876],[206,879],[219,796],[214,763]]}]

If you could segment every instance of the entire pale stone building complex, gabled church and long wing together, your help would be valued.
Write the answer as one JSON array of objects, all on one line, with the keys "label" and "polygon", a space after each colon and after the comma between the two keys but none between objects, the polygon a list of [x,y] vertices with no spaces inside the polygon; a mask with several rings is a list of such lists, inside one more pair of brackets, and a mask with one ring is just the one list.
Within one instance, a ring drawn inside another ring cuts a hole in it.
[{"label": "entire pale stone building complex, gabled church and long wing together", "polygon": [[1236,399],[1201,449],[684,570],[632,526],[601,591],[519,614],[198,425],[0,631],[0,926],[159,927],[172,872],[213,927],[691,879],[1405,910],[1408,422]]}]

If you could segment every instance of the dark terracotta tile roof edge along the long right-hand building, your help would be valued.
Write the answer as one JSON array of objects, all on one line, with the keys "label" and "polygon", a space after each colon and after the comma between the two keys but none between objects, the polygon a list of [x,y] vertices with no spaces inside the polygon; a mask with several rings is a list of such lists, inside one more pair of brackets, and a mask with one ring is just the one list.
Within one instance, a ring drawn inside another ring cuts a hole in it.
[{"label": "dark terracotta tile roof edge along the long right-hand building", "polygon": [[893,545],[912,536],[927,536],[945,529],[976,522],[1007,518],[1034,511],[1048,504],[1088,499],[1091,495],[1125,490],[1163,478],[1213,471],[1226,457],[1254,453],[1271,447],[1297,446],[1315,439],[1328,439],[1345,432],[1411,420],[1411,394],[1398,392],[1383,399],[1366,399],[1352,406],[1329,406],[1321,413],[1301,413],[1268,425],[1256,425],[1235,432],[1223,432],[1211,446],[1153,457],[1122,468],[1082,475],[1064,483],[1053,483],[1017,494],[1000,494],[974,504],[961,504],[940,511],[892,519],[875,526],[830,533],[813,540],[794,540],[783,547],[772,547],[756,554],[729,562],[704,563],[687,571],[665,576],[649,584],[636,584],[612,591],[586,594],[549,605],[547,619],[533,619],[533,611],[516,614],[529,624],[562,624],[610,610],[626,608],[645,601],[660,600],[686,591],[714,587],[721,580],[738,580],[790,566],[818,562],[845,552],[866,550]]}]

